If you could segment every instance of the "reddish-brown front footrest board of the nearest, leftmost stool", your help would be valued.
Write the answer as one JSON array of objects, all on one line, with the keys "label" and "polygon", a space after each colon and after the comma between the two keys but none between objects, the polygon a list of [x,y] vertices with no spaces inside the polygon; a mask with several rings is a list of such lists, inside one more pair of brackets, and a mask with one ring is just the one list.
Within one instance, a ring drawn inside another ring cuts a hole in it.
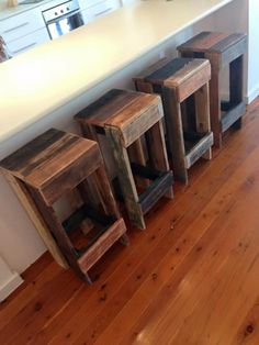
[{"label": "reddish-brown front footrest board of the nearest, leftmost stool", "polygon": [[123,219],[114,222],[101,236],[91,245],[78,259],[78,265],[83,272],[87,272],[98,259],[105,253],[115,241],[126,233]]}]

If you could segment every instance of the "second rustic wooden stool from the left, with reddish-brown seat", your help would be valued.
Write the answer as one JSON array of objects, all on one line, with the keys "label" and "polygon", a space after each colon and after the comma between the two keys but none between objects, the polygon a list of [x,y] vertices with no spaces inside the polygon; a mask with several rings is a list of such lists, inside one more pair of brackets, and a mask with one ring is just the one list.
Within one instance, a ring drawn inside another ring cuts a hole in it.
[{"label": "second rustic wooden stool from the left, with reddish-brown seat", "polygon": [[[160,121],[162,115],[158,96],[114,89],[75,116],[87,137],[99,140],[98,134],[106,135],[128,216],[140,229],[145,229],[144,214],[160,197],[167,193],[172,198],[172,172]],[[148,143],[148,157],[145,156],[144,140]],[[127,149],[135,153],[134,162],[130,162]],[[137,190],[136,177],[153,182]]]}]

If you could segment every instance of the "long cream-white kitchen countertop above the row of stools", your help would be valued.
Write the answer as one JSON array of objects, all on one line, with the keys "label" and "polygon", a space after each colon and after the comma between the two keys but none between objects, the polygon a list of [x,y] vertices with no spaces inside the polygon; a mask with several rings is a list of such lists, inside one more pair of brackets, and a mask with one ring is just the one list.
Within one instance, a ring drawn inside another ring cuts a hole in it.
[{"label": "long cream-white kitchen countertop above the row of stools", "polygon": [[232,1],[136,1],[1,64],[0,142]]}]

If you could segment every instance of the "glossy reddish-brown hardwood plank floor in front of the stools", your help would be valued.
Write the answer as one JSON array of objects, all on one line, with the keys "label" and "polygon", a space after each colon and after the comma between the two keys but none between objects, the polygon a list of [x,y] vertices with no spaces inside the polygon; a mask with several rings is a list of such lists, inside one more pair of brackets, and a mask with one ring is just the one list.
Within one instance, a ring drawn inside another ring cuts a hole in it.
[{"label": "glossy reddish-brown hardwood plank floor in front of the stools", "polygon": [[0,305],[0,344],[259,344],[259,99],[211,163],[130,229],[87,286],[45,254]]}]

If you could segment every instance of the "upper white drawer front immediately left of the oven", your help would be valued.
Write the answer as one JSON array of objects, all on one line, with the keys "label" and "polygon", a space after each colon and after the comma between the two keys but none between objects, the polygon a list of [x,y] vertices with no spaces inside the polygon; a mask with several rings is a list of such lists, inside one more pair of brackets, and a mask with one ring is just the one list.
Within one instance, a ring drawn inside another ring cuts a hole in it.
[{"label": "upper white drawer front immediately left of the oven", "polygon": [[0,35],[9,43],[42,27],[45,27],[42,12],[34,9],[0,21]]}]

